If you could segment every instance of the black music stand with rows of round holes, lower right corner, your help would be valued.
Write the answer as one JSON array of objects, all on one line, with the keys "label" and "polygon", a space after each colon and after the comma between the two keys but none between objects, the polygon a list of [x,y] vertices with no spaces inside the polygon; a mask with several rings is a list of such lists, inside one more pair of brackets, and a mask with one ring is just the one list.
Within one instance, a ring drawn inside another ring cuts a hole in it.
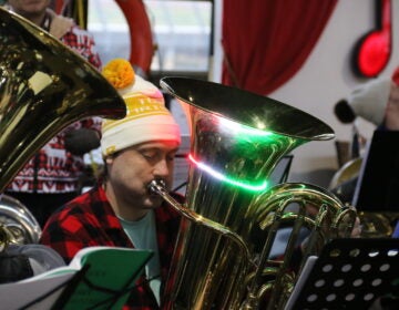
[{"label": "black music stand with rows of round holes, lower right corner", "polygon": [[285,310],[369,309],[381,297],[399,298],[398,239],[335,239],[305,265]]}]

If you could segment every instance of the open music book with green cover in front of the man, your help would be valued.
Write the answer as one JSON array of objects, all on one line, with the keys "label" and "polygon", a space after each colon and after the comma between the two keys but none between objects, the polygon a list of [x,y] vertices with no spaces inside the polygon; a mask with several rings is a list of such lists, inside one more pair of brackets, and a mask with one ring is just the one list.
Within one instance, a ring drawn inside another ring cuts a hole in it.
[{"label": "open music book with green cover in front of the man", "polygon": [[[0,309],[48,310],[60,299],[66,302],[62,303],[62,309],[86,309],[103,300],[108,303],[114,301],[115,309],[121,309],[117,307],[123,306],[129,297],[126,286],[134,285],[152,256],[152,251],[131,248],[83,248],[68,266],[21,281],[0,285]],[[82,276],[88,282],[102,289],[90,288]],[[125,292],[117,296],[117,299],[114,298],[113,291],[119,292],[121,289]],[[28,307],[30,303],[33,304]]]}]

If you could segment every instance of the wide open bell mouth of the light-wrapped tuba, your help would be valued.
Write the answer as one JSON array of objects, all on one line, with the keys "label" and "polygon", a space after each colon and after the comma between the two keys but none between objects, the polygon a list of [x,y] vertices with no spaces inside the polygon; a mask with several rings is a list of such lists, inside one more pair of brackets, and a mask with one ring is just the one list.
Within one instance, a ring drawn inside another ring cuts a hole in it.
[{"label": "wide open bell mouth of the light-wrapped tuba", "polygon": [[165,76],[160,85],[177,101],[255,130],[306,141],[335,137],[334,130],[319,118],[245,90],[181,76]]}]

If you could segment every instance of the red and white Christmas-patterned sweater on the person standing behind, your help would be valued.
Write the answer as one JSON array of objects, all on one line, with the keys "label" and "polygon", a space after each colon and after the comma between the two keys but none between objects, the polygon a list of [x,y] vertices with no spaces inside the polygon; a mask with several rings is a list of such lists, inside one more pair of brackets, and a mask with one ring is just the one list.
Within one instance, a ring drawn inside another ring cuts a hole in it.
[{"label": "red and white Christmas-patterned sweater on the person standing behind", "polygon": [[[94,40],[86,31],[73,25],[60,40],[96,69],[101,68]],[[101,121],[99,117],[92,117],[75,122],[55,135],[27,163],[7,190],[45,194],[76,192],[84,162],[82,156],[65,151],[64,133],[81,127],[93,128],[100,133]]]}]

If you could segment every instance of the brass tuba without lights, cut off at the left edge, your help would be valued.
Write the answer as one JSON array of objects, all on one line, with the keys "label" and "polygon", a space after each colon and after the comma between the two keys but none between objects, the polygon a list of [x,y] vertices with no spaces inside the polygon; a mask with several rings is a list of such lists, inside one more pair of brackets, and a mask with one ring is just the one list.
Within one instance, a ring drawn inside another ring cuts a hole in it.
[{"label": "brass tuba without lights, cut off at the left edge", "polygon": [[[59,40],[0,8],[0,193],[57,132],[94,115],[125,115],[112,85]],[[37,241],[41,230],[35,219],[4,196],[0,245]],[[28,236],[21,238],[16,227]]]}]

